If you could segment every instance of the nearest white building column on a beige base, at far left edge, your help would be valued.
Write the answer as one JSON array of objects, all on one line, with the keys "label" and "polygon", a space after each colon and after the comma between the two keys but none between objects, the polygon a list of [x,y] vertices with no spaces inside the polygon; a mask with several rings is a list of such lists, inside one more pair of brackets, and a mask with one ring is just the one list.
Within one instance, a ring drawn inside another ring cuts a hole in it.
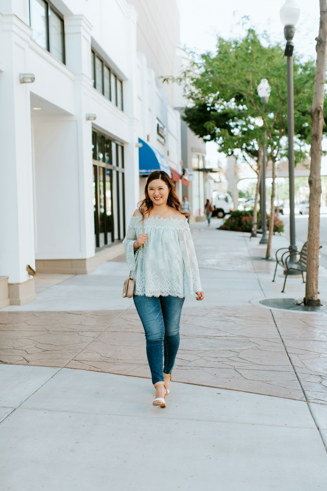
[{"label": "nearest white building column on a beige base, at far left edge", "polygon": [[[13,14],[2,17],[0,76],[0,276],[8,276],[9,301],[22,305],[36,298],[33,171],[31,150],[31,84],[19,74],[30,72],[30,27]],[[4,289],[5,290],[5,289]],[[1,289],[3,291],[3,288]],[[0,298],[0,305],[3,299]],[[4,305],[2,305],[4,306]]]}]

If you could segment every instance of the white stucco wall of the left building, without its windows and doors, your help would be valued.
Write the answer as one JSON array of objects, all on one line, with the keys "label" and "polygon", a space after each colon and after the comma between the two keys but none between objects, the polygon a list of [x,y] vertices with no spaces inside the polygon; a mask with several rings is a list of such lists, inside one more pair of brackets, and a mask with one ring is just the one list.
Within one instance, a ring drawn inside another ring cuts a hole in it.
[{"label": "white stucco wall of the left building, without its windows and doors", "polygon": [[[148,34],[150,0],[52,3],[64,17],[66,65],[31,38],[28,0],[0,0],[0,275],[11,283],[29,278],[26,265],[34,268],[35,258],[95,254],[86,113],[97,115],[96,130],[124,146],[126,223],[140,193],[138,138],[150,135],[180,169],[179,113],[172,87],[158,78],[172,73],[176,1],[153,4],[156,22],[163,17]],[[93,87],[91,46],[123,80],[124,111]],[[34,73],[35,82],[21,84],[21,72]],[[166,126],[164,145],[157,118]]]}]

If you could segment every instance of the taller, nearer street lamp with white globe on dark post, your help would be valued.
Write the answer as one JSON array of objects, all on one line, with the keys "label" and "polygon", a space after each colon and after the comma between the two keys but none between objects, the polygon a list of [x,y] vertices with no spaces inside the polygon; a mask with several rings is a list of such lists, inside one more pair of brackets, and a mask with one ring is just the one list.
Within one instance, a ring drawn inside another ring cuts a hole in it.
[{"label": "taller, nearer street lamp with white globe on dark post", "polygon": [[280,20],[284,24],[287,56],[287,120],[288,120],[288,173],[290,181],[290,245],[289,250],[297,250],[295,243],[294,211],[294,86],[293,86],[293,36],[299,20],[300,8],[294,0],[286,0],[280,9]]}]

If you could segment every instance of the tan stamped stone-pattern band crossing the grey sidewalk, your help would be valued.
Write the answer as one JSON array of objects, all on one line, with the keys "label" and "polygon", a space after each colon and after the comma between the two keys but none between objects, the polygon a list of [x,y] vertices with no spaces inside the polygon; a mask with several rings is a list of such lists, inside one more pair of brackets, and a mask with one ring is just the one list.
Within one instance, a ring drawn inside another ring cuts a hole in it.
[{"label": "tan stamped stone-pattern band crossing the grey sidewalk", "polygon": [[[184,309],[174,380],[305,400],[299,377],[307,400],[327,404],[325,322],[256,306]],[[150,378],[135,309],[1,312],[0,335],[1,363]]]}]

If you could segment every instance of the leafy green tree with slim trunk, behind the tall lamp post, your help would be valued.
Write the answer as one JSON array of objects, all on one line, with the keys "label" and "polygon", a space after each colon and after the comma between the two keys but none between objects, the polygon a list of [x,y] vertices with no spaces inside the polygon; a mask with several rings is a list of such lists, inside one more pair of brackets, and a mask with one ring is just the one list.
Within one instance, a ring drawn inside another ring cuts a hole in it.
[{"label": "leafy green tree with slim trunk, behind the tall lamp post", "polygon": [[[184,120],[205,141],[214,140],[227,155],[238,149],[259,175],[261,149],[267,145],[267,160],[273,163],[272,213],[267,257],[270,255],[275,216],[275,162],[288,155],[287,70],[279,44],[260,42],[253,29],[243,39],[218,39],[217,52],[201,55],[178,80],[184,84],[193,106]],[[295,159],[306,157],[310,141],[309,109],[313,96],[315,63],[294,58]],[[257,94],[262,79],[271,86],[263,107]],[[256,164],[252,164],[252,159]]]}]

